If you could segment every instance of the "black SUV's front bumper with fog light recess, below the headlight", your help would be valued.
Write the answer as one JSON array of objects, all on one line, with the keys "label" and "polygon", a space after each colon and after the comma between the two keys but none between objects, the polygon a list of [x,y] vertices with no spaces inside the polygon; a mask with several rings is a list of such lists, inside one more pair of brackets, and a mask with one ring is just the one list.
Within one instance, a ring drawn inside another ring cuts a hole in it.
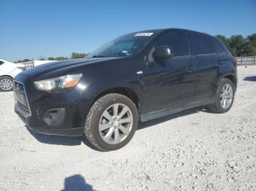
[{"label": "black SUV's front bumper with fog light recess, below the headlight", "polygon": [[[83,135],[90,104],[89,100],[82,98],[79,90],[60,94],[41,92],[35,89],[29,77],[21,74],[15,77],[15,83],[17,82],[23,85],[24,92],[20,93],[14,85],[15,112],[27,127],[48,135]],[[26,109],[20,109],[20,103]],[[54,116],[48,116],[51,111],[53,114],[56,111],[62,112],[52,119]],[[51,119],[50,122],[48,119]]]}]

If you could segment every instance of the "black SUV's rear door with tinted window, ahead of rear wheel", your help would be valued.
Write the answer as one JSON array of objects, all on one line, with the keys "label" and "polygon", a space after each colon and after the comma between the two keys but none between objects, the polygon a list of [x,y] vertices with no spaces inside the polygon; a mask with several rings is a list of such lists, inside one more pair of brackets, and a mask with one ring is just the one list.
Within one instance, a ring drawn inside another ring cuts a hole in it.
[{"label": "black SUV's rear door with tinted window, ahead of rear wheel", "polygon": [[219,55],[217,54],[211,36],[206,34],[189,33],[195,47],[196,58],[196,99],[203,101],[213,98],[217,90],[219,72]]}]

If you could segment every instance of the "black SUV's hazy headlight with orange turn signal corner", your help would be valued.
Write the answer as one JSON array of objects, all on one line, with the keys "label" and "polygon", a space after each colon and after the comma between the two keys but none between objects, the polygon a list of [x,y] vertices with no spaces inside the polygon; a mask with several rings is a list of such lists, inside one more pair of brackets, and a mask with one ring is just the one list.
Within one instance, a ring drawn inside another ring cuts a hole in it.
[{"label": "black SUV's hazy headlight with orange turn signal corner", "polygon": [[37,90],[46,91],[50,93],[67,93],[78,84],[82,74],[73,74],[63,77],[56,77],[51,79],[44,79],[34,82]]}]

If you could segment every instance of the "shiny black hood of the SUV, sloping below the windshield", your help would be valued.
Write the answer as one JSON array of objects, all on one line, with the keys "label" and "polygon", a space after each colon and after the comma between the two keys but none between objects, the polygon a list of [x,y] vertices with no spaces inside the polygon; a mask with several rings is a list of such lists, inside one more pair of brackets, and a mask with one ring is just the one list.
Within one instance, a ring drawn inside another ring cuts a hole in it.
[{"label": "shiny black hood of the SUV, sloping below the windshield", "polygon": [[[118,57],[119,58],[119,57]],[[28,77],[36,77],[40,74],[45,74],[50,71],[63,70],[63,69],[74,69],[76,66],[83,66],[92,63],[99,63],[102,61],[110,61],[118,58],[82,58],[82,59],[73,59],[67,61],[56,61],[51,63],[44,63],[39,66],[35,66],[32,69],[23,71],[21,74]]]}]

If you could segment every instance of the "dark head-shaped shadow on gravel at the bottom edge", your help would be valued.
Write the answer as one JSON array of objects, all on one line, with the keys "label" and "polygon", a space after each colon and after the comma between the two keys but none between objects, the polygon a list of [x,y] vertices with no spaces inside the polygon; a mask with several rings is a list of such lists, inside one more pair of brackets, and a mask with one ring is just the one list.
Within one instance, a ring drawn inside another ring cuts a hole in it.
[{"label": "dark head-shaped shadow on gravel at the bottom edge", "polygon": [[86,183],[86,180],[80,174],[75,174],[65,178],[64,189],[61,191],[92,191],[93,188],[90,184]]}]

